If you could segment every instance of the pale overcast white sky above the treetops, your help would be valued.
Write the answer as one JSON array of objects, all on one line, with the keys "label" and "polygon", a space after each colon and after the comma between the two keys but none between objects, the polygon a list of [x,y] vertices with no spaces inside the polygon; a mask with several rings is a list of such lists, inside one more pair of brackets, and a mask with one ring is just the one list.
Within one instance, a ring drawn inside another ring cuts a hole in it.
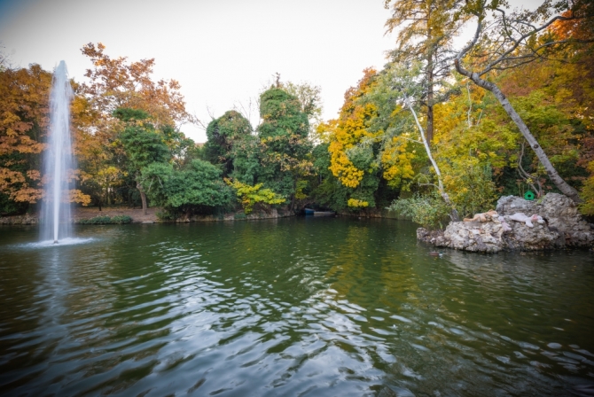
[{"label": "pale overcast white sky above the treetops", "polygon": [[[522,2],[530,4],[539,0]],[[520,2],[517,2],[520,3]],[[279,73],[322,88],[324,119],[365,67],[381,68],[395,47],[384,35],[384,0],[0,0],[0,42],[14,66],[52,70],[65,60],[83,80],[85,43],[106,54],[155,58],[155,78],[182,85],[201,121],[247,104]],[[257,123],[254,113],[253,123]],[[255,127],[255,126],[254,126]],[[206,134],[184,126],[197,142]]]}]

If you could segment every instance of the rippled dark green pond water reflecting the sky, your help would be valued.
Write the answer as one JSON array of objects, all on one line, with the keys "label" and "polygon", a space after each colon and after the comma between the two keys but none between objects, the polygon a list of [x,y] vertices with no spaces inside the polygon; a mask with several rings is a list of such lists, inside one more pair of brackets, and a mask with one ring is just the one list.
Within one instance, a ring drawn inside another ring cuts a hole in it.
[{"label": "rippled dark green pond water reflecting the sky", "polygon": [[4,395],[594,395],[594,254],[293,218],[0,228]]}]

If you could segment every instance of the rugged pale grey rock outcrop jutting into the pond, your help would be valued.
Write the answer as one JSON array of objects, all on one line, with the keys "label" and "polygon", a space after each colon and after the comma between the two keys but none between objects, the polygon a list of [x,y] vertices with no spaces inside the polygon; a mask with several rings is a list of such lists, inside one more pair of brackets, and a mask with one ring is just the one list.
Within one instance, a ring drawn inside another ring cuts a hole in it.
[{"label": "rugged pale grey rock outcrop jutting into the pond", "polygon": [[594,244],[594,229],[590,223],[583,220],[571,199],[557,193],[535,201],[502,197],[497,201],[496,214],[482,220],[484,222],[450,222],[446,230],[419,228],[417,238],[435,246],[480,253]]}]

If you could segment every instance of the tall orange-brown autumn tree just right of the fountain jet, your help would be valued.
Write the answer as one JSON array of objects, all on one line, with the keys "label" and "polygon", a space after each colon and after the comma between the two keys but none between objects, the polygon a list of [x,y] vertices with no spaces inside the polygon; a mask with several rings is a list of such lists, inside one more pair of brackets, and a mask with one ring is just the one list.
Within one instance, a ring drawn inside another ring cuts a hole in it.
[{"label": "tall orange-brown autumn tree just right of the fountain jet", "polygon": [[[85,74],[89,82],[80,84],[77,90],[86,101],[83,110],[88,115],[87,122],[79,128],[83,134],[79,134],[82,139],[77,154],[83,168],[83,186],[94,195],[96,203],[101,204],[101,198],[108,198],[107,192],[112,187],[125,186],[128,173],[122,165],[126,153],[118,144],[118,137],[129,126],[114,117],[116,109],[146,113],[154,131],[168,146],[170,160],[179,164],[194,146],[179,128],[196,120],[185,110],[179,82],[153,80],[153,58],[133,62],[125,57],[111,58],[102,43],[86,44],[82,53],[90,58],[92,67]],[[145,195],[141,194],[141,199],[145,199]]]}]

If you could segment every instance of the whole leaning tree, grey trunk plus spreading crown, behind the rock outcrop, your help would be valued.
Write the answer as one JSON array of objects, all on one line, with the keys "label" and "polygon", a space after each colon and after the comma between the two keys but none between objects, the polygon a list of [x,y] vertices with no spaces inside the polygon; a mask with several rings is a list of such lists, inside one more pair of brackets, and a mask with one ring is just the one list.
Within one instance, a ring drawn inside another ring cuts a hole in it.
[{"label": "whole leaning tree, grey trunk plus spreading crown, behind the rock outcrop", "polygon": [[[535,12],[512,12],[508,15],[504,9],[498,8],[498,1],[478,0],[469,3],[465,11],[477,19],[477,27],[473,40],[457,53],[455,65],[459,74],[468,77],[476,85],[495,95],[535,152],[551,182],[574,202],[580,202],[578,192],[559,175],[503,91],[495,82],[487,79],[489,73],[525,65],[547,56],[554,48],[569,43],[568,39],[557,40],[551,35],[546,35],[547,29],[556,21],[578,18],[573,10],[570,10],[568,16],[558,14],[550,18],[551,13],[559,12],[560,7],[564,5],[567,4],[563,2],[552,4],[547,0]],[[579,11],[575,10],[575,12]],[[492,21],[487,19],[489,12],[493,14]]]}]

